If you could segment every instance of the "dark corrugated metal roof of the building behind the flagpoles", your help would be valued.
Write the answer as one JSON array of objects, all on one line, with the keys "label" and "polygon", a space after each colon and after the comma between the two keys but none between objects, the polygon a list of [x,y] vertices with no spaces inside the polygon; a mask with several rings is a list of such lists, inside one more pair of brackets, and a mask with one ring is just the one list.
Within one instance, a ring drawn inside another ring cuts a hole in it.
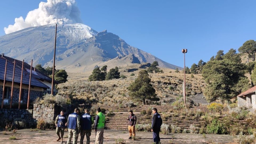
[{"label": "dark corrugated metal roof of the building behind the flagpoles", "polygon": [[[5,63],[6,63],[6,59],[0,57],[0,79],[2,80],[4,80],[4,75],[5,75]],[[19,66],[20,65],[19,61],[17,63],[18,64],[15,66],[14,82],[20,83],[21,67]],[[14,66],[14,63],[7,60],[6,81],[12,81],[13,79],[13,66]],[[30,69],[30,66],[29,66],[29,69]],[[23,70],[23,79],[22,79],[23,84],[29,85],[29,75],[30,75],[30,70],[27,70],[25,68],[25,70]],[[47,89],[50,88],[44,83],[38,81],[38,78],[39,78],[38,73],[33,71],[31,76],[31,86],[42,87]]]}]

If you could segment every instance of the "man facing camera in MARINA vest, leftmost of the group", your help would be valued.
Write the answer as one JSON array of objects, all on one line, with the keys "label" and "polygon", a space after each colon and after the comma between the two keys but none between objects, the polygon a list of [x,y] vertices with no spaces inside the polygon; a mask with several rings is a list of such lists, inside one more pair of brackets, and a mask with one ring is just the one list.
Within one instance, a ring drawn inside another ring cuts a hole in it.
[{"label": "man facing camera in MARINA vest, leftmost of the group", "polygon": [[[65,126],[67,126],[67,116],[64,115],[64,111],[61,111],[61,114],[57,115],[55,119],[55,126],[56,126],[56,134],[58,135],[57,142],[61,139],[61,142],[63,141],[63,135],[65,131]],[[61,132],[61,137],[59,135],[59,132]]]}]

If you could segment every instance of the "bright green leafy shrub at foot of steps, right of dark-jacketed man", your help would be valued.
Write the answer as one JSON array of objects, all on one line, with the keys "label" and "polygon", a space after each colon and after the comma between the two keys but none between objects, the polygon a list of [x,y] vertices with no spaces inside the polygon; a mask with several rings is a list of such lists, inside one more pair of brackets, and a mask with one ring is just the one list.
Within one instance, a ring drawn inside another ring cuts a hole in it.
[{"label": "bright green leafy shrub at foot of steps, right of dark-jacketed man", "polygon": [[210,125],[207,125],[206,132],[208,134],[225,134],[225,128],[223,124],[219,123],[216,119],[213,119]]}]

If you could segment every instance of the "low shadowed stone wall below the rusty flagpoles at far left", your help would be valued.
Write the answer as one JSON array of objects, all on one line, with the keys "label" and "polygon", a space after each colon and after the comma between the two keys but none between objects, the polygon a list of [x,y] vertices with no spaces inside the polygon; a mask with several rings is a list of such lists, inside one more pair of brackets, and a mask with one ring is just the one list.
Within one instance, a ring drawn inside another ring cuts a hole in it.
[{"label": "low shadowed stone wall below the rusty flagpoles at far left", "polygon": [[13,121],[15,118],[21,118],[26,120],[27,124],[32,125],[34,123],[32,109],[0,109],[0,119],[8,119]]}]

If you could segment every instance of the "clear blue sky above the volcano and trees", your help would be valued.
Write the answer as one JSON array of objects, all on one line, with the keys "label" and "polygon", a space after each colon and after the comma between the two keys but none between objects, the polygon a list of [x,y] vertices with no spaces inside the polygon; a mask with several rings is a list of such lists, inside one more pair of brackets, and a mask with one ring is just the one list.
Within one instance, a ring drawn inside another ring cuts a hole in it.
[{"label": "clear blue sky above the volcano and trees", "polygon": [[[0,35],[14,18],[38,8],[40,1],[8,0],[0,5]],[[129,45],[163,61],[183,67],[181,49],[188,49],[186,65],[207,62],[218,50],[238,49],[256,39],[256,1],[106,1],[76,0],[83,23],[107,30]]]}]

